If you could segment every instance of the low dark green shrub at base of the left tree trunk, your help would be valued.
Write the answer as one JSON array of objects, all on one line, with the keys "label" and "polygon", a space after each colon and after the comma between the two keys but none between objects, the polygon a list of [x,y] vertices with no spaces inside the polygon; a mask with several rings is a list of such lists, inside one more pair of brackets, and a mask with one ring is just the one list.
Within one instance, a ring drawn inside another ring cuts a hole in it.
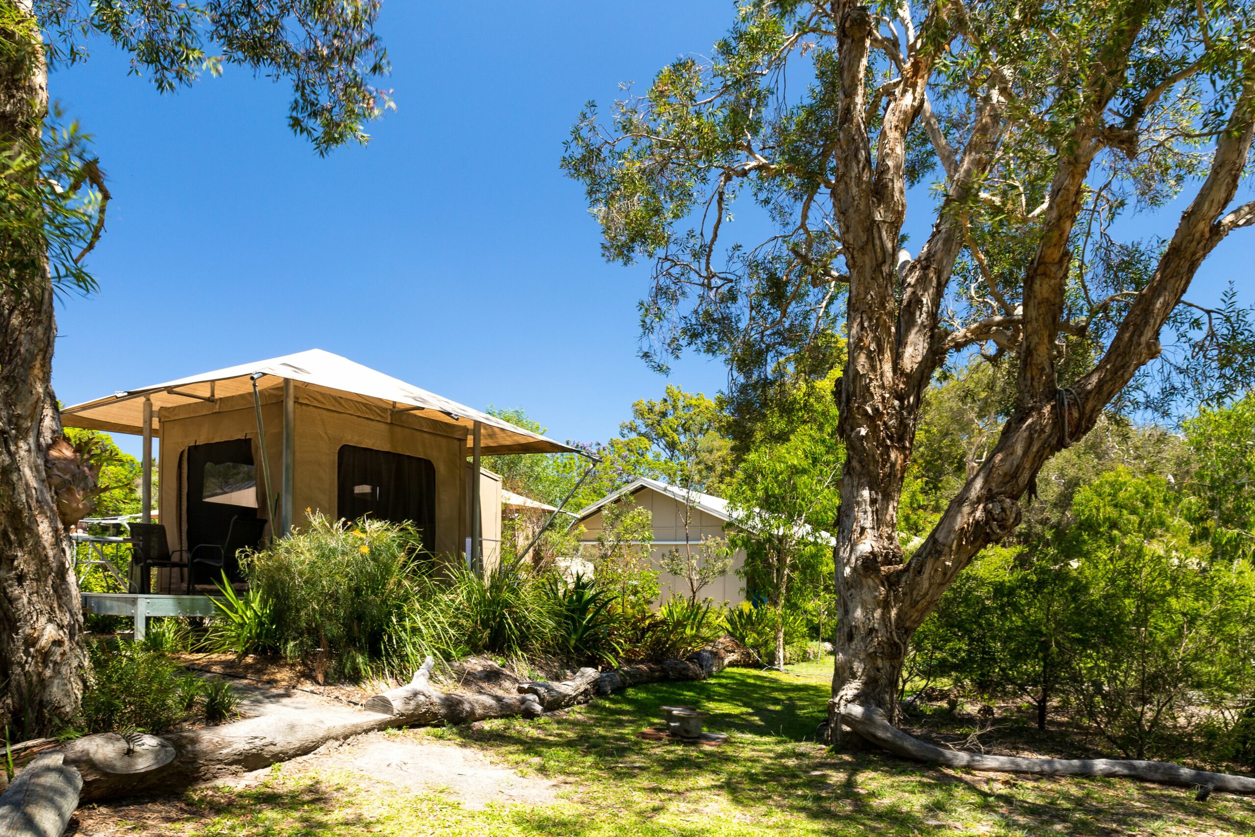
[{"label": "low dark green shrub at base of the left tree trunk", "polygon": [[132,729],[164,733],[187,714],[178,666],[132,642],[88,642],[92,673],[83,695],[89,733]]}]

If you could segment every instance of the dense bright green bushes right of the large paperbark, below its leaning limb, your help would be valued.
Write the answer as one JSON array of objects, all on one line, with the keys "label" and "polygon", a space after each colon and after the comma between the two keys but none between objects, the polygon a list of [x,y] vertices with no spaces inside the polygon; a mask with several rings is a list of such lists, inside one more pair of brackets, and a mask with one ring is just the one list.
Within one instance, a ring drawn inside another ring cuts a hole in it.
[{"label": "dense bright green bushes right of the large paperbark, below its leaning limb", "polygon": [[1222,755],[1209,729],[1255,695],[1255,568],[1212,557],[1183,504],[1122,467],[1082,486],[1048,542],[988,548],[960,576],[904,679],[1028,699],[1042,719],[1062,703],[1132,758]]}]

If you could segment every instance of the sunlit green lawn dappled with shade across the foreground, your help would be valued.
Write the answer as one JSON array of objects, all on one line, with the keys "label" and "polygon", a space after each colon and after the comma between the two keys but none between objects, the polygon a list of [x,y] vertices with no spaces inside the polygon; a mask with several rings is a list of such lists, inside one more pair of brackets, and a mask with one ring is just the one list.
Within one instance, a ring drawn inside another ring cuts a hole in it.
[{"label": "sunlit green lawn dappled with shade across the foreground", "polygon": [[[811,740],[822,720],[828,665],[799,668],[806,676],[738,669],[705,683],[644,686],[560,718],[395,733],[456,740],[522,773],[567,782],[558,802],[545,807],[471,811],[442,793],[408,794],[348,770],[277,765],[259,787],[188,796],[176,806],[177,822],[152,833],[1255,833],[1255,799],[1217,794],[1199,803],[1183,788],[991,778],[877,754],[832,755]],[[699,749],[636,738],[666,703],[703,706],[712,713],[708,729],[729,733],[730,740]]]}]

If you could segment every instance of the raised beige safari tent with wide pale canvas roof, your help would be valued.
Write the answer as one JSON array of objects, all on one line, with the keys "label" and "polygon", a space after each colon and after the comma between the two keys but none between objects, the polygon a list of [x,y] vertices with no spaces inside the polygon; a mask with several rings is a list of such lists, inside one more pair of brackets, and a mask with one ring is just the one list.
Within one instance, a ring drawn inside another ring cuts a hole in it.
[{"label": "raised beige safari tent with wide pale canvas roof", "polygon": [[[122,390],[68,407],[61,420],[144,437],[146,522],[157,439],[171,553],[222,545],[237,520],[279,535],[309,509],[413,521],[432,552],[488,568],[499,555],[501,478],[479,457],[574,450],[320,349]],[[153,586],[181,592],[184,573],[162,568]],[[193,589],[211,580],[197,573]]]}]

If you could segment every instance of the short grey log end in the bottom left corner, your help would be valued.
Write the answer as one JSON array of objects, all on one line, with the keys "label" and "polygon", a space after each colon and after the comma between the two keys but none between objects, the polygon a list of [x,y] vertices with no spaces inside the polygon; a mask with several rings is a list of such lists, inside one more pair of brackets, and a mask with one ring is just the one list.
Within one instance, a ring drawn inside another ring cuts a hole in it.
[{"label": "short grey log end in the bottom left corner", "polygon": [[61,753],[36,755],[0,796],[0,834],[60,837],[82,789],[83,777]]}]

